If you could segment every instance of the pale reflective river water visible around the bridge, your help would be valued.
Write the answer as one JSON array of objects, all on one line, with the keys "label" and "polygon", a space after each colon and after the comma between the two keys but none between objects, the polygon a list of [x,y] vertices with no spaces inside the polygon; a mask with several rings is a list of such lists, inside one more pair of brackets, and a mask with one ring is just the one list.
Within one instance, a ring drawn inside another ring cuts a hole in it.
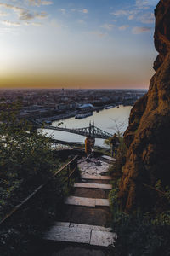
[{"label": "pale reflective river water visible around the bridge", "polygon": [[[131,111],[131,106],[123,107],[119,106],[119,108],[110,108],[101,110],[99,113],[94,112],[93,116],[89,116],[85,119],[75,119],[69,118],[62,120],[63,124],[60,127],[67,127],[67,128],[82,128],[88,127],[89,122],[94,121],[94,125],[98,128],[107,131],[111,134],[115,133],[117,130],[121,131],[122,133],[127,129],[128,125],[128,117]],[[54,121],[53,126],[57,126],[61,123],[61,120]],[[61,141],[72,142],[72,143],[84,143],[85,137],[77,134],[71,134],[65,131],[51,131],[45,130],[48,135],[53,135],[54,139],[58,139]],[[105,146],[105,140],[103,139],[96,139],[95,145],[100,147]]]}]

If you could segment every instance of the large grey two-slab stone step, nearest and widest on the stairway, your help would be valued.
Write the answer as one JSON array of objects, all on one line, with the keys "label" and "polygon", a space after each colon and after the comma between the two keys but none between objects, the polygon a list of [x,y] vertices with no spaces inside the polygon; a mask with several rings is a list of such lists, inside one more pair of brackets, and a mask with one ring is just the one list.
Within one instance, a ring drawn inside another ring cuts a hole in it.
[{"label": "large grey two-slab stone step, nearest and widest on the stairway", "polygon": [[56,223],[43,236],[48,241],[65,241],[99,247],[114,247],[117,238],[111,229],[85,224]]}]

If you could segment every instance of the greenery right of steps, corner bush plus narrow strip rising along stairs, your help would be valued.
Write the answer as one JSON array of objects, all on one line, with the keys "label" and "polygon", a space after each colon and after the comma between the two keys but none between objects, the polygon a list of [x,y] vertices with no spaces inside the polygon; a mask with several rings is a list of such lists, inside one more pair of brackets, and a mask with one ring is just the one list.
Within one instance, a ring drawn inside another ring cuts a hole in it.
[{"label": "greenery right of steps, corner bush plus narrow strip rising along stairs", "polygon": [[120,212],[118,205],[119,180],[110,192],[112,229],[116,232],[116,255],[170,255],[170,211],[153,213]]}]

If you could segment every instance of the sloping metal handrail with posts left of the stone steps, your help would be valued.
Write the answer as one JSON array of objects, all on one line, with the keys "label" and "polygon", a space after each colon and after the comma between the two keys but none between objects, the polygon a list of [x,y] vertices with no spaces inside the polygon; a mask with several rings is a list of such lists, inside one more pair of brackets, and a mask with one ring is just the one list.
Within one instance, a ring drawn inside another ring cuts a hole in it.
[{"label": "sloping metal handrail with posts left of the stone steps", "polygon": [[24,205],[26,205],[26,203],[28,201],[30,201],[34,195],[37,195],[37,193],[42,190],[49,182],[51,182],[53,180],[54,177],[56,177],[60,172],[62,172],[63,170],[65,170],[66,167],[67,168],[67,171],[70,170],[70,166],[71,166],[71,163],[73,163],[75,161],[75,168],[74,170],[70,173],[70,172],[67,172],[67,178],[65,179],[65,181],[68,181],[67,185],[69,186],[70,184],[70,177],[71,175],[77,171],[77,159],[78,159],[78,156],[75,156],[71,161],[69,161],[67,164],[65,164],[65,166],[62,166],[57,172],[55,172],[51,177],[48,178],[48,181],[46,183],[43,183],[42,185],[40,185],[39,187],[37,187],[37,189],[34,190],[34,192],[31,193],[31,195],[28,195],[26,197],[25,200],[23,200],[20,204],[18,204],[16,207],[14,207],[14,209],[9,212],[1,221],[0,221],[0,225],[3,224],[9,217],[11,217],[14,212],[17,212],[20,210],[21,207],[23,207]]}]

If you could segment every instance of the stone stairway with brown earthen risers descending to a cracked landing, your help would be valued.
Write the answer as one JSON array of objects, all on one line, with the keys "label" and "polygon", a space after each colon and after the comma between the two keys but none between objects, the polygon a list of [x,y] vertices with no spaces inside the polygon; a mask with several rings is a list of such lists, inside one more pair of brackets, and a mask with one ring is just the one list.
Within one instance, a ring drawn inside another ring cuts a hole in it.
[{"label": "stone stairway with brown earthen risers descending to a cracked landing", "polygon": [[105,175],[112,160],[106,156],[79,160],[81,180],[65,200],[64,216],[44,236],[58,242],[50,255],[113,255],[116,234],[106,227],[111,218],[108,195],[112,186],[111,177]]}]

